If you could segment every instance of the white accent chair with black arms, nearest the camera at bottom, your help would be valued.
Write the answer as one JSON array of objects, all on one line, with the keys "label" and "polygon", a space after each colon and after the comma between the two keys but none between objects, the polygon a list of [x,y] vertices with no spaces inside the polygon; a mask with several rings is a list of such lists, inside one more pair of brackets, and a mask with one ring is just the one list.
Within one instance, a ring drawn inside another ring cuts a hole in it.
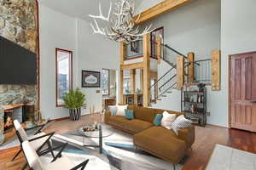
[{"label": "white accent chair with black arms, nearest the camera at bottom", "polygon": [[[39,157],[36,150],[32,148],[32,144],[30,144],[27,140],[22,143],[22,148],[24,154],[26,156],[26,161],[28,166],[32,170],[84,170],[89,160],[83,161],[79,165],[74,165],[73,161],[70,161],[67,157],[61,156],[62,150],[66,147],[67,144],[61,146],[61,150],[55,156],[55,158],[47,165],[42,165],[42,157]],[[55,148],[57,149],[57,148]],[[58,147],[60,149],[60,147]]]}]

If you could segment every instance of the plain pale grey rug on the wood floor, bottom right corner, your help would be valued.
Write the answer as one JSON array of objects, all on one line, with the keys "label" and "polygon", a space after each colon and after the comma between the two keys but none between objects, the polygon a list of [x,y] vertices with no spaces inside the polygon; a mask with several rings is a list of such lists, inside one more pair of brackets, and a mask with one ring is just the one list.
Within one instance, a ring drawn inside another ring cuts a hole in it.
[{"label": "plain pale grey rug on the wood floor, bottom right corner", "polygon": [[216,144],[206,170],[256,170],[256,154]]}]

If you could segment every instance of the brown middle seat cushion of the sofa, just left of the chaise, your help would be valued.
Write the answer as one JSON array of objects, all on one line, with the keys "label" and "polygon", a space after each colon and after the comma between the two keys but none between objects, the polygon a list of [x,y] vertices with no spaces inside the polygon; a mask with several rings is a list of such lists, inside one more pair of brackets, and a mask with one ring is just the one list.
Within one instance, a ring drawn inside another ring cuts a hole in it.
[{"label": "brown middle seat cushion of the sofa, just left of the chaise", "polygon": [[125,128],[134,133],[142,132],[143,130],[154,126],[153,123],[141,121],[138,119],[131,120],[128,123],[129,124],[127,124]]}]

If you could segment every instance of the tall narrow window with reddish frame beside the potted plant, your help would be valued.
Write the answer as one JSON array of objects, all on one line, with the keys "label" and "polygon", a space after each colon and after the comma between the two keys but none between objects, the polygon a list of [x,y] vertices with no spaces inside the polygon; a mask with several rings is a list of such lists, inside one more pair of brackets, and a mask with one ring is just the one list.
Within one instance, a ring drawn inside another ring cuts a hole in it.
[{"label": "tall narrow window with reddish frame beside the potted plant", "polygon": [[73,84],[73,68],[72,57],[73,52],[65,49],[55,49],[56,64],[56,107],[64,106],[63,96],[72,89]]}]

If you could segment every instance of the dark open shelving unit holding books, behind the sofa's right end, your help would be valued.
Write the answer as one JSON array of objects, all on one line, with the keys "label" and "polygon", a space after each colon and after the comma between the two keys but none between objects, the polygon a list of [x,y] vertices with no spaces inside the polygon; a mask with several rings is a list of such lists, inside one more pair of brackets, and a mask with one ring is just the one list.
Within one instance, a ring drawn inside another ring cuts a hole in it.
[{"label": "dark open shelving unit holding books, behind the sofa's right end", "polygon": [[181,111],[194,124],[205,127],[207,124],[207,88],[201,91],[182,90]]}]

